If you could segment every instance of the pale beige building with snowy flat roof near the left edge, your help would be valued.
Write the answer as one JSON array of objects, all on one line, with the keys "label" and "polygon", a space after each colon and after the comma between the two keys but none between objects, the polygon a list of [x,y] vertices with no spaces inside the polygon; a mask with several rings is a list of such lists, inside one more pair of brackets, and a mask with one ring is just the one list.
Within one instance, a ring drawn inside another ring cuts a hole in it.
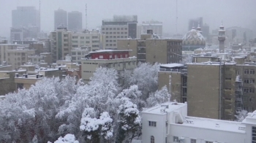
[{"label": "pale beige building with snowy flat roof near the left edge", "polygon": [[6,50],[7,63],[12,65],[12,69],[20,68],[20,65],[27,63],[28,56],[34,55],[35,50],[27,50],[25,47],[17,47],[15,50]]}]

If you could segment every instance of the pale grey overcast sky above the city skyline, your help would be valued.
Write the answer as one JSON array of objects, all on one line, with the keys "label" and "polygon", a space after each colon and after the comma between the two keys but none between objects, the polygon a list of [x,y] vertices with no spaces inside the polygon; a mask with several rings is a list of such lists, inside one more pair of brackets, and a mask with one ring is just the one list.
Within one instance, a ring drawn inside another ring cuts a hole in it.
[{"label": "pale grey overcast sky above the city skyline", "polygon": [[[177,0],[178,33],[184,34],[191,18],[203,17],[210,29],[218,28],[221,21],[225,27],[252,27],[256,19],[256,0]],[[101,26],[102,19],[113,15],[138,15],[138,22],[159,20],[163,32],[176,34],[176,0],[41,0],[41,30],[53,30],[54,10],[61,8],[83,12],[87,4],[88,27]],[[10,36],[12,9],[34,6],[39,9],[39,0],[0,0],[0,36]]]}]

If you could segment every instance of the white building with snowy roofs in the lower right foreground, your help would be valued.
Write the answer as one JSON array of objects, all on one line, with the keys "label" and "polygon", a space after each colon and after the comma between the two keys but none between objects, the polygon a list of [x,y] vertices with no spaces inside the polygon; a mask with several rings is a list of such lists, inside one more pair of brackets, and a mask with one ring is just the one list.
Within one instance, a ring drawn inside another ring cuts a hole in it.
[{"label": "white building with snowy roofs in the lower right foreground", "polygon": [[142,142],[255,143],[256,111],[242,123],[187,116],[187,103],[165,103],[142,112]]}]

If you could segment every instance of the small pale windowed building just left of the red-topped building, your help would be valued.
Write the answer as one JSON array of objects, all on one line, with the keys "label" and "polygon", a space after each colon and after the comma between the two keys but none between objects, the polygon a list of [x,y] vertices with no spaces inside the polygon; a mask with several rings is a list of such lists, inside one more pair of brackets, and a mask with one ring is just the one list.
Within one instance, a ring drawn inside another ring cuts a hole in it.
[{"label": "small pale windowed building just left of the red-topped building", "polygon": [[71,50],[72,62],[81,63],[81,59],[89,52],[89,50],[82,49],[79,47],[73,48]]}]

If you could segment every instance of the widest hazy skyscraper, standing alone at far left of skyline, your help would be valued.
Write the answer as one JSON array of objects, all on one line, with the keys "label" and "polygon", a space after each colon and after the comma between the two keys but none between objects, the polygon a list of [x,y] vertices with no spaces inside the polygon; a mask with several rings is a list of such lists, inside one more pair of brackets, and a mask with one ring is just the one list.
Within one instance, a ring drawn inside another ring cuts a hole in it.
[{"label": "widest hazy skyscraper, standing alone at far left of skyline", "polygon": [[40,31],[39,10],[35,7],[17,7],[12,10],[12,28],[37,27]]}]

